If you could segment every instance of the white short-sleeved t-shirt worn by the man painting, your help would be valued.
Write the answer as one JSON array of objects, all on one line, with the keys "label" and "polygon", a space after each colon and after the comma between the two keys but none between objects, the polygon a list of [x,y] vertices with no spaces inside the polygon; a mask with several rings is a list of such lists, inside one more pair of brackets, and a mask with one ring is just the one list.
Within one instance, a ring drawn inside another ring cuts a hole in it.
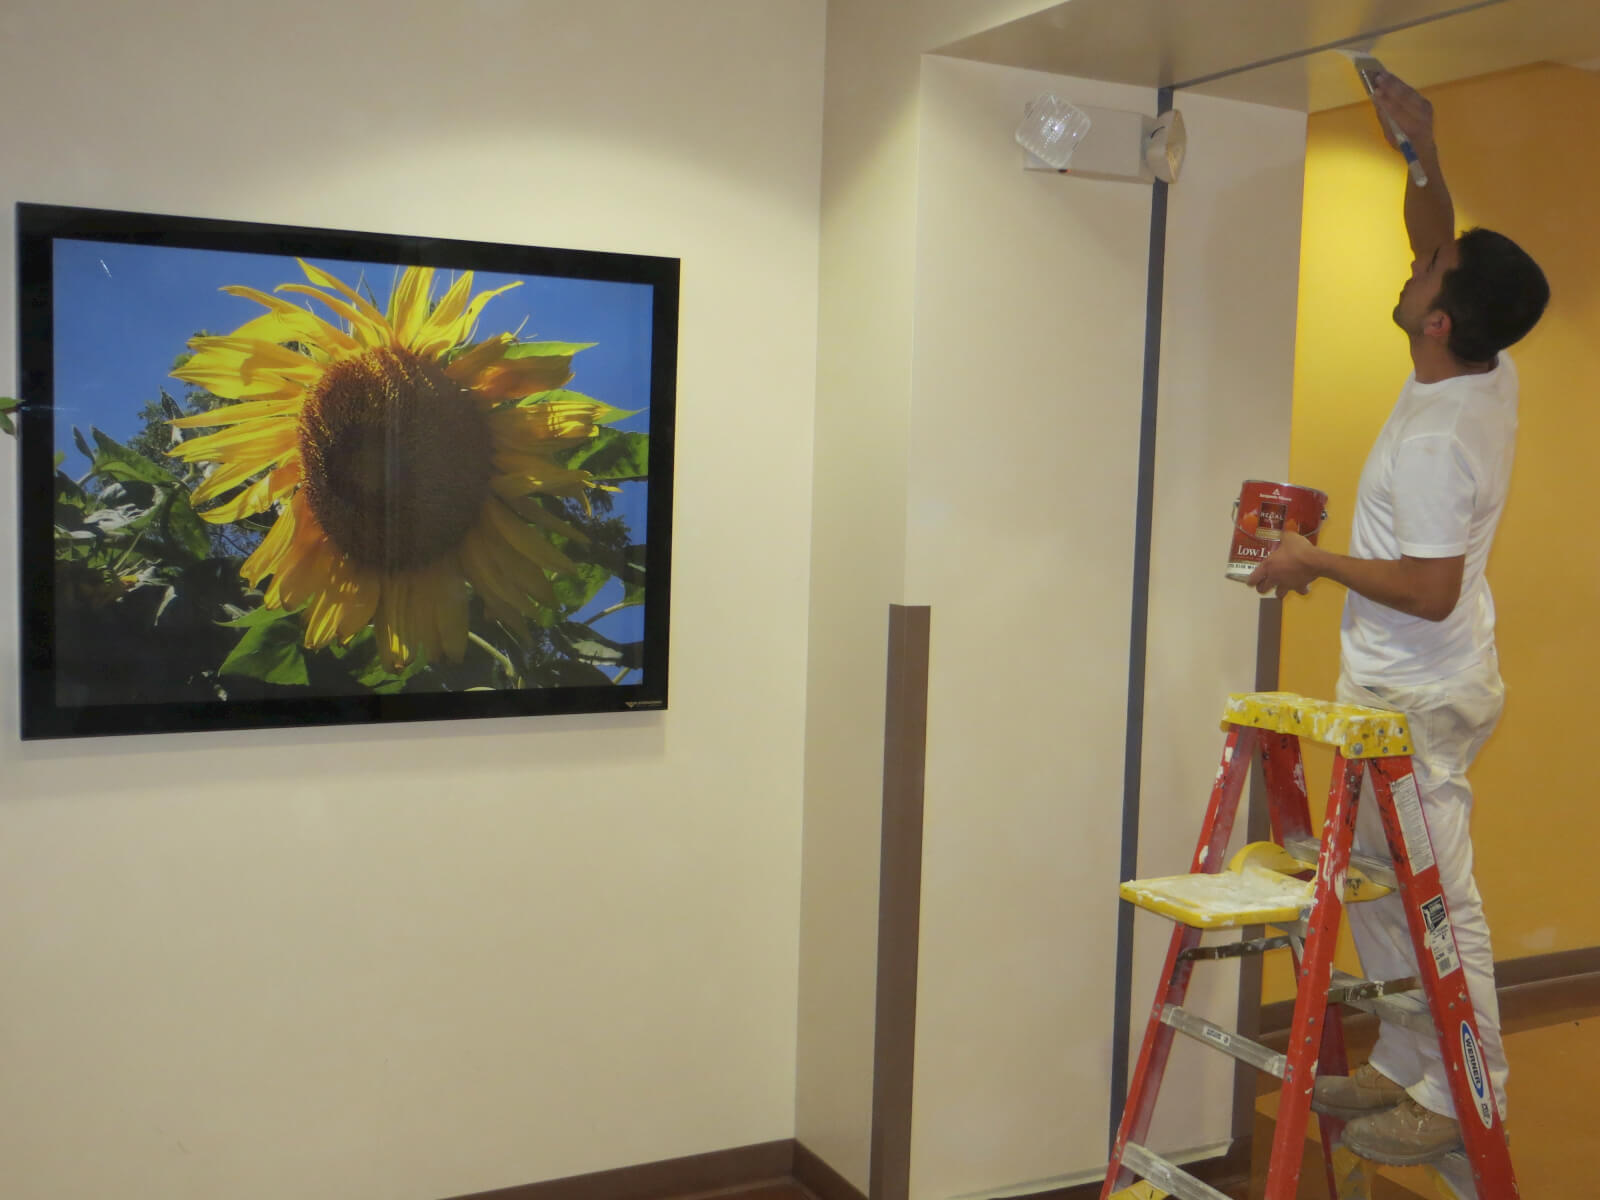
[{"label": "white short-sleeved t-shirt worn by the man painting", "polygon": [[1494,597],[1483,563],[1510,486],[1517,448],[1517,366],[1400,389],[1362,469],[1350,526],[1357,558],[1466,555],[1461,598],[1424,621],[1350,592],[1339,629],[1344,670],[1357,683],[1434,683],[1494,648]]}]

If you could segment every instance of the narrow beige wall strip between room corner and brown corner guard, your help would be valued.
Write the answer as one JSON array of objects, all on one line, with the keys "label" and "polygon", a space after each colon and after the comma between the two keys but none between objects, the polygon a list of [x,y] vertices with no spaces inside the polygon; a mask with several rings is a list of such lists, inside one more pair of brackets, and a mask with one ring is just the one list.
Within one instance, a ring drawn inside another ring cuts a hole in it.
[{"label": "narrow beige wall strip between room corner and brown corner guard", "polygon": [[867,1186],[883,664],[906,594],[922,54],[1038,0],[830,0],[797,1133]]}]

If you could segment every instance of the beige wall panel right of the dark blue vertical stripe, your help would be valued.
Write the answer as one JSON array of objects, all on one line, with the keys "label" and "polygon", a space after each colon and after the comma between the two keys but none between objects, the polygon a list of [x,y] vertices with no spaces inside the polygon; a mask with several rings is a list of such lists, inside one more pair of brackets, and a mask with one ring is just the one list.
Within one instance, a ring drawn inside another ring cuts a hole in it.
[{"label": "beige wall panel right of the dark blue vertical stripe", "polygon": [[[1222,701],[1250,691],[1261,602],[1222,578],[1230,510],[1246,478],[1285,478],[1294,381],[1306,115],[1178,96],[1192,154],[1170,190],[1162,394],[1155,443],[1139,875],[1189,867],[1222,752]],[[1245,842],[1240,806],[1234,846]],[[1130,1062],[1171,939],[1136,914]],[[1224,933],[1214,939],[1235,934]],[[1203,963],[1187,1006],[1232,1029],[1238,968]],[[1227,1141],[1232,1062],[1178,1038],[1181,1090],[1150,1139]]]}]

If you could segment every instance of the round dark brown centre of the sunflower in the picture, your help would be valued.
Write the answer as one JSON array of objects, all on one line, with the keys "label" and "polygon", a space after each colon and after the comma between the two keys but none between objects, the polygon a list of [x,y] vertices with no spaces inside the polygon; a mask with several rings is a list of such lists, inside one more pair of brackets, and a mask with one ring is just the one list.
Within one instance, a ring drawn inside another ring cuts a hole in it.
[{"label": "round dark brown centre of the sunflower in the picture", "polygon": [[488,498],[491,443],[470,392],[406,350],[328,368],[301,410],[306,496],[362,566],[427,566]]}]

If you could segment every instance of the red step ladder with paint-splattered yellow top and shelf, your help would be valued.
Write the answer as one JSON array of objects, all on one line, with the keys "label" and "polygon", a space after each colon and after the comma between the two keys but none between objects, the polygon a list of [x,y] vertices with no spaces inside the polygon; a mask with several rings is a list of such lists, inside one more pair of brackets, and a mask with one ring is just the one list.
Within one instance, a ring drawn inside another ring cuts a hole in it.
[{"label": "red step ladder with paint-splattered yellow top and shelf", "polygon": [[[1450,1072],[1466,1162],[1435,1163],[1464,1178],[1470,1166],[1478,1200],[1518,1195],[1506,1131],[1494,1104],[1467,997],[1461,957],[1438,882],[1438,867],[1411,773],[1411,734],[1398,712],[1333,704],[1282,691],[1230,696],[1222,717],[1227,739],[1189,875],[1131,880],[1125,899],[1178,922],[1150,1022],[1128,1088],[1101,1200],[1229,1200],[1144,1146],[1173,1035],[1250,1062],[1283,1082],[1267,1170],[1266,1200],[1293,1200],[1299,1187],[1306,1126],[1317,1075],[1346,1072],[1344,1026],[1331,1005],[1347,1005],[1435,1034]],[[1334,747],[1322,838],[1312,835],[1301,739]],[[1222,862],[1250,765],[1264,771],[1272,842],[1245,846]],[[1370,778],[1390,859],[1352,854],[1362,781]],[[1306,878],[1309,875],[1309,878]],[[1398,890],[1405,904],[1418,978],[1365,981],[1336,971],[1334,944],[1344,904]],[[1282,933],[1202,946],[1205,930],[1269,925]],[[1184,1010],[1194,965],[1288,947],[1298,994],[1288,1051],[1221,1029]],[[1366,1171],[1339,1146],[1344,1122],[1318,1115],[1328,1195],[1368,1195]]]}]

